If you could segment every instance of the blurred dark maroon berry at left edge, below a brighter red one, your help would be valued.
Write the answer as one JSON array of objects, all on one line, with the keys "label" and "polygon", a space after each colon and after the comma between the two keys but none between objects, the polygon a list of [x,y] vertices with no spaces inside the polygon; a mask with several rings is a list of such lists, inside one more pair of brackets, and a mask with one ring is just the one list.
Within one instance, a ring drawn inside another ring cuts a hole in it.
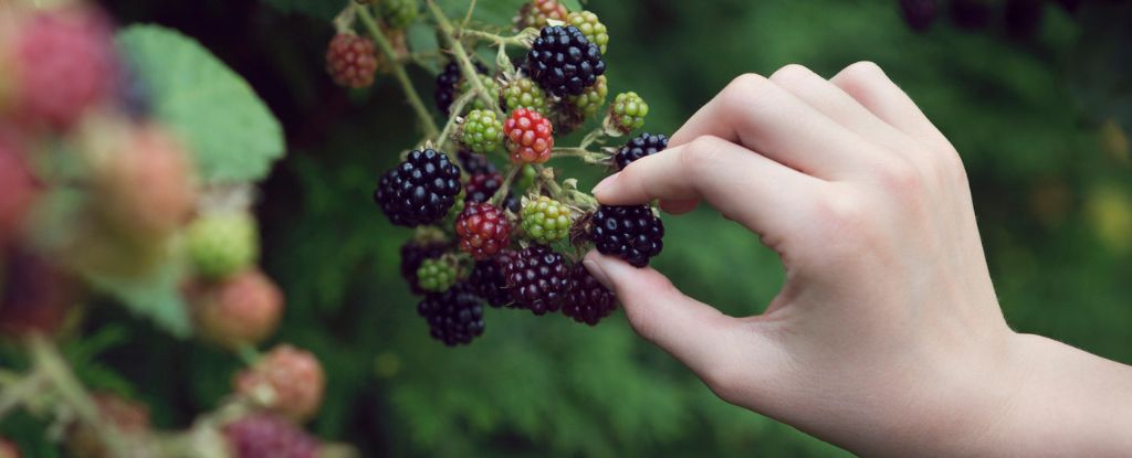
[{"label": "blurred dark maroon berry at left edge, below a brighter red one", "polygon": [[0,259],[0,335],[55,331],[77,300],[74,278],[25,247],[6,251]]}]

